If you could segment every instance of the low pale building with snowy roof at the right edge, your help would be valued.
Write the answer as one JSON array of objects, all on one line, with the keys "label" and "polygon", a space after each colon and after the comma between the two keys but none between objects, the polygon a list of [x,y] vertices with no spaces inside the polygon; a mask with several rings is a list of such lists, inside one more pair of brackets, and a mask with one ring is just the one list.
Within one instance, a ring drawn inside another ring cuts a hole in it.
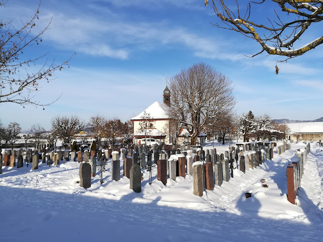
[{"label": "low pale building with snowy roof at the right edge", "polygon": [[291,141],[319,141],[323,140],[323,122],[286,123],[291,129]]}]

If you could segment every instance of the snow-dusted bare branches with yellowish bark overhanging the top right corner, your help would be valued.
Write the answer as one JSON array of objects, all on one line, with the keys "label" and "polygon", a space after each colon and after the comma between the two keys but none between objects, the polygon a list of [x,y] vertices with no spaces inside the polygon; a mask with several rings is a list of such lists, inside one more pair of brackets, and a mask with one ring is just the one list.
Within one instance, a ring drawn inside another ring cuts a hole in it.
[{"label": "snow-dusted bare branches with yellowish bark overhanging the top right corner", "polygon": [[[305,45],[300,41],[311,24],[323,20],[322,0],[249,1],[243,9],[238,0],[236,0],[235,9],[231,2],[228,3],[226,0],[211,1],[215,14],[224,23],[224,25],[215,24],[216,26],[240,32],[261,45],[262,50],[252,57],[265,51],[270,55],[286,56],[289,59],[303,55],[323,43],[322,33],[319,33],[321,36],[313,37],[313,40]],[[208,2],[205,0],[205,5]],[[273,9],[273,2],[281,12]],[[267,16],[268,25],[264,25],[259,18],[253,19],[251,6],[255,6],[254,11],[272,9],[276,17]],[[287,15],[282,14],[286,12]],[[298,47],[296,47],[297,44],[299,44]]]}]

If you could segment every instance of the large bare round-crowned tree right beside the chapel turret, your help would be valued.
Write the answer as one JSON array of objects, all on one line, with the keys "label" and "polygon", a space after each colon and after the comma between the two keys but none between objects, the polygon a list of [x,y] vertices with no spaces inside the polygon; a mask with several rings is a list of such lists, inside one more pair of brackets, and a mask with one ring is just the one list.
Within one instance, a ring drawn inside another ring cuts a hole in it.
[{"label": "large bare round-crowned tree right beside the chapel turret", "polygon": [[230,113],[235,105],[231,80],[204,63],[195,64],[170,78],[173,93],[170,116],[191,135],[191,144],[209,121]]}]

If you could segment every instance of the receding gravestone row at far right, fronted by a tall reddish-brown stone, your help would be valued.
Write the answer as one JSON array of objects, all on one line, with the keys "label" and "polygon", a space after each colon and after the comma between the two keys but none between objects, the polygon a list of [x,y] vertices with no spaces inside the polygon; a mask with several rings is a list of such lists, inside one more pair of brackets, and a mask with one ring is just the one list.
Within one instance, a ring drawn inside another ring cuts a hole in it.
[{"label": "receding gravestone row at far right, fronted by a tall reddish-brown stone", "polygon": [[292,164],[287,166],[287,198],[292,204],[296,204],[296,196],[298,195],[298,189],[301,186],[301,180],[304,174],[305,164],[307,162],[307,156],[310,152],[310,143],[305,148],[298,149],[296,152],[298,161],[293,161]]}]

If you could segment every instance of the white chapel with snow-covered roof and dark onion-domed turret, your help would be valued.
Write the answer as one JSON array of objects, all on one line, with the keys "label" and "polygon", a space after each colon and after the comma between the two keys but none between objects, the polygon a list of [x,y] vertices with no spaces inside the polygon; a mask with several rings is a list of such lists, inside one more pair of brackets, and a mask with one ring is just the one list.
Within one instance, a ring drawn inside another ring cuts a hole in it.
[{"label": "white chapel with snow-covered roof and dark onion-domed turret", "polygon": [[[137,140],[145,136],[156,138],[166,144],[171,142],[171,134],[169,132],[169,106],[170,91],[166,85],[163,91],[163,103],[155,102],[131,119],[134,122],[134,143],[138,143]],[[150,115],[153,127],[140,130],[140,122],[144,120],[143,116],[145,113]]]}]

